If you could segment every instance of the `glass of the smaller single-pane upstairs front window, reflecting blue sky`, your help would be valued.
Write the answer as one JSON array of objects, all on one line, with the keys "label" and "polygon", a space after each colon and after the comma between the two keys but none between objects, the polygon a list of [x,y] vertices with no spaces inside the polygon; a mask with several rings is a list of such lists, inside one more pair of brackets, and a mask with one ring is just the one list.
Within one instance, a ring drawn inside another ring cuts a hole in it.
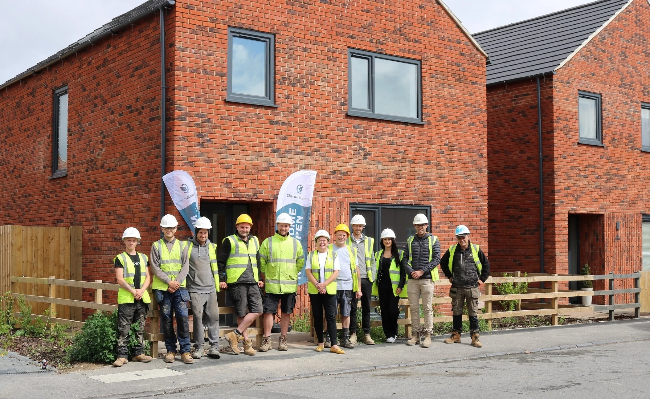
[{"label": "glass of the smaller single-pane upstairs front window, reflecting blue sky", "polygon": [[233,37],[233,93],[266,96],[266,42]]}]

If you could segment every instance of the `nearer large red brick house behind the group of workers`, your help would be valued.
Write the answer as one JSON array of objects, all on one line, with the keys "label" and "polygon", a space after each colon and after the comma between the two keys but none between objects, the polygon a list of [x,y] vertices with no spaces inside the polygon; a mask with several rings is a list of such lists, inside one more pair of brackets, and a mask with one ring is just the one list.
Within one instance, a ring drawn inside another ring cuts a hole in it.
[{"label": "nearer large red brick house behind the group of workers", "polygon": [[360,212],[405,242],[425,212],[443,246],[464,223],[487,249],[486,60],[441,1],[148,1],[0,85],[0,224],[82,225],[83,279],[114,281],[125,227],[148,251],[181,220],[161,163],[218,243],[242,212],[272,235],[313,169],[312,234]]}]

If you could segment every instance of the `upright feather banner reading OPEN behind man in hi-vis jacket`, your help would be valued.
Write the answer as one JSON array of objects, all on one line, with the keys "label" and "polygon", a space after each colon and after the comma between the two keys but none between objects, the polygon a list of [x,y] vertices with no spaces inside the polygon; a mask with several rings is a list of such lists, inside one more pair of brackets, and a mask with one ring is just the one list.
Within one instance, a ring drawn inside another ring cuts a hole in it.
[{"label": "upright feather banner reading OPEN behind man in hi-vis jacket", "polygon": [[[289,229],[289,235],[300,241],[305,257],[307,257],[307,244],[309,244],[307,235],[309,235],[309,216],[315,184],[315,170],[298,170],[282,183],[276,206],[276,217],[281,213],[288,213],[291,216],[293,224]],[[298,285],[304,283],[307,283],[307,275],[303,268],[298,273]]]}]

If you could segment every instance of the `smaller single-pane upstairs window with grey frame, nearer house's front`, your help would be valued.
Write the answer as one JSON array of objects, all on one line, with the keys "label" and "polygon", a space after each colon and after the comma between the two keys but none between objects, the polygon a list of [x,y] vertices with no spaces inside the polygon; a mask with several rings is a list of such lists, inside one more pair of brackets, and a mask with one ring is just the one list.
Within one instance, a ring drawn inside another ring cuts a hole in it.
[{"label": "smaller single-pane upstairs window with grey frame, nearer house's front", "polygon": [[226,101],[275,105],[275,36],[228,28],[228,82]]}]

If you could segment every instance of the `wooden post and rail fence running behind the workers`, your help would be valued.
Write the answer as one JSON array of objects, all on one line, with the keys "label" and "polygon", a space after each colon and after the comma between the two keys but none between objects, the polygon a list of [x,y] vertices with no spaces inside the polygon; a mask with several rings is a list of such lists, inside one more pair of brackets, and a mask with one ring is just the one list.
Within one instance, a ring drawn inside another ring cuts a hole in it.
[{"label": "wooden post and rail fence running behind the workers", "polygon": [[[496,274],[496,273],[495,273]],[[634,279],[634,288],[616,289],[616,281],[623,279]],[[52,323],[66,324],[68,326],[81,328],[84,322],[80,320],[72,320],[70,318],[56,317],[59,315],[59,307],[73,307],[80,309],[95,309],[100,311],[112,312],[118,308],[117,305],[109,303],[102,303],[102,291],[117,291],[120,287],[114,283],[103,283],[101,280],[96,281],[77,281],[69,279],[57,279],[56,277],[40,278],[40,277],[11,277],[12,294],[15,298],[24,295],[26,301],[45,303],[50,309],[49,320]],[[586,280],[608,280],[607,290],[595,291],[581,291],[581,290],[558,290],[558,283],[562,281],[586,281]],[[525,294],[493,294],[495,283],[541,283],[550,282],[551,289],[528,289]],[[32,285],[47,285],[49,296],[27,295],[19,292],[18,284],[32,284]],[[437,285],[450,285],[447,279],[437,281]],[[70,287],[76,289],[90,289],[95,291],[94,302],[86,302],[81,300],[71,300],[66,298],[57,298],[58,288]],[[490,276],[485,283],[485,295],[482,295],[479,300],[485,303],[486,313],[480,313],[478,318],[487,319],[488,326],[491,327],[491,321],[495,318],[513,317],[513,316],[541,316],[551,315],[552,324],[558,324],[558,316],[575,311],[608,311],[610,320],[614,320],[614,311],[616,309],[629,309],[634,308],[634,316],[638,317],[640,311],[650,311],[650,272],[637,272],[632,274],[604,274],[599,276],[558,276],[558,275],[540,275],[528,274],[527,276],[519,277],[495,277]],[[616,294],[634,294],[634,302],[632,303],[615,303]],[[571,298],[577,296],[606,296],[608,298],[607,305],[564,305],[558,304],[560,298]],[[542,302],[521,302],[517,305],[515,311],[495,311],[493,309],[493,302],[504,300],[550,300],[550,303]],[[434,298],[434,304],[451,303],[451,298],[440,297]],[[404,306],[404,315],[406,318],[398,319],[398,324],[404,325],[404,330],[407,336],[411,334],[411,319],[409,318],[409,304],[408,300],[400,300],[400,305]],[[372,301],[371,306],[378,306],[379,301]],[[521,310],[522,307],[527,308]],[[149,324],[145,331],[144,338],[151,341],[151,355],[157,357],[158,355],[158,342],[164,341],[162,333],[160,333],[160,311],[157,309],[155,295],[151,295],[151,310],[149,311],[148,318]],[[233,314],[233,307],[220,307],[220,315]],[[18,312],[16,312],[18,315]],[[66,313],[70,315],[70,311]],[[40,315],[31,315],[32,318],[40,317]],[[467,316],[463,316],[463,320],[467,320]],[[435,316],[435,322],[451,322],[452,316]],[[421,318],[424,322],[424,318]],[[372,326],[381,326],[381,320],[374,320],[371,322]],[[340,328],[340,324],[338,326]],[[220,329],[220,336],[233,331],[233,328]],[[258,318],[255,327],[248,329],[249,335],[257,337],[257,346],[261,345],[263,335],[262,318]],[[313,334],[313,328],[312,328]]]}]

